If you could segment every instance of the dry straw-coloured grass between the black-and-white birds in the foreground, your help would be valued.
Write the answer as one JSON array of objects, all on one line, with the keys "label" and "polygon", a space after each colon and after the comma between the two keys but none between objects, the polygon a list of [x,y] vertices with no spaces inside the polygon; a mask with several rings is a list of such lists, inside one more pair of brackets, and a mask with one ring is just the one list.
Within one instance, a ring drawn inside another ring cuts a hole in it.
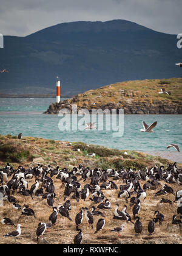
[{"label": "dry straw-coloured grass between the black-and-white birds in the foreground", "polygon": [[[29,188],[32,185],[34,180],[29,181]],[[89,183],[89,180],[87,180]],[[61,185],[60,180],[55,179],[55,188],[56,194],[58,194],[58,198],[55,199],[55,206],[62,205],[64,203],[63,193],[64,193],[64,185]],[[83,185],[83,181],[81,182]],[[121,181],[117,181],[116,184],[121,185]],[[141,182],[143,185],[144,182]],[[161,182],[163,185],[164,182]],[[160,189],[161,186],[158,188]],[[180,187],[177,185],[171,185],[174,190],[179,190]],[[161,240],[165,243],[170,243],[174,241],[180,242],[180,230],[179,227],[172,227],[170,224],[172,221],[172,216],[177,212],[176,204],[159,204],[160,196],[153,198],[155,191],[147,191],[146,201],[141,206],[141,222],[143,223],[143,232],[140,236],[136,237],[133,229],[132,223],[126,223],[126,228],[124,229],[122,236],[118,238],[117,233],[112,233],[109,230],[113,227],[120,226],[123,221],[118,221],[113,219],[113,212],[115,209],[116,203],[120,204],[120,209],[123,208],[124,204],[126,204],[125,200],[117,199],[118,190],[104,190],[105,196],[110,200],[112,209],[109,210],[101,210],[106,216],[106,225],[102,232],[98,232],[94,235],[96,222],[100,218],[100,216],[94,217],[94,228],[87,225],[86,220],[84,219],[83,224],[81,225],[81,229],[83,230],[84,238],[83,243],[145,243],[149,240],[147,236],[147,224],[153,218],[153,213],[155,210],[160,210],[161,213],[164,214],[165,219],[160,227],[159,224],[156,224],[155,233],[151,236],[152,241],[157,240],[161,243]],[[32,201],[31,197],[22,197],[18,196],[15,193],[15,197],[17,202],[21,205],[29,204],[29,207],[35,211],[36,219],[33,216],[25,217],[19,220],[19,224],[22,225],[22,235],[21,239],[17,240],[19,243],[36,243],[36,228],[38,227],[39,222],[49,222],[49,216],[52,213],[52,209],[47,205],[46,200],[40,201],[40,197],[35,197]],[[171,201],[174,201],[174,196],[169,194],[168,196],[164,196]],[[92,207],[93,203],[87,199],[85,202],[80,200],[76,202],[75,199],[71,200],[72,202],[72,210],[70,212],[70,218],[72,221],[69,221],[67,218],[62,218],[61,215],[58,215],[58,224],[53,226],[50,232],[44,233],[44,238],[42,238],[41,243],[73,243],[73,238],[76,235],[75,230],[75,216],[81,209],[81,207],[88,207],[89,209]],[[132,216],[132,207],[127,209],[127,212]],[[21,214],[21,211],[13,210],[12,204],[9,202],[4,202],[4,207],[1,211],[0,218],[8,217],[12,219],[15,224]],[[0,233],[1,235],[14,230],[15,227],[6,227],[4,225],[0,225]],[[172,232],[171,232],[172,229]],[[157,243],[155,241],[155,243]],[[1,236],[0,243],[15,243],[13,238],[4,238]]]}]

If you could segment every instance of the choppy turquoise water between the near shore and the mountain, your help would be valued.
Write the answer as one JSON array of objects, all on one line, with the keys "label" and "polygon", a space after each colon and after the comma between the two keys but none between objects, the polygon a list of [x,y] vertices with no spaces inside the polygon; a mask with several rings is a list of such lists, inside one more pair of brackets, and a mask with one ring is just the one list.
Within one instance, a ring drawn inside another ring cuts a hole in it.
[{"label": "choppy turquoise water between the near shore and the mountain", "polygon": [[[83,141],[124,150],[166,151],[170,143],[176,143],[182,149],[181,115],[124,115],[123,136],[113,137],[112,130],[61,131],[58,127],[61,117],[42,114],[52,102],[55,102],[54,98],[1,99],[0,133],[18,135],[22,132],[24,136]],[[147,124],[157,121],[153,129],[155,133],[140,132],[143,121]]]}]

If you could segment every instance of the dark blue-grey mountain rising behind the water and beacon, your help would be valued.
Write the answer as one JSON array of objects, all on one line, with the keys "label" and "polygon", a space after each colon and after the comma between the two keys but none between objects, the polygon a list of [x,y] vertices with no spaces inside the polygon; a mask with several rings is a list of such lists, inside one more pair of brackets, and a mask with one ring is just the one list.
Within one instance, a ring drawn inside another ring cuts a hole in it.
[{"label": "dark blue-grey mountain rising behind the water and beacon", "polygon": [[[29,87],[75,95],[123,80],[180,77],[177,35],[126,20],[77,21],[47,27],[26,37],[5,36],[0,49],[0,89],[29,93]],[[45,89],[46,88],[46,89]]]}]

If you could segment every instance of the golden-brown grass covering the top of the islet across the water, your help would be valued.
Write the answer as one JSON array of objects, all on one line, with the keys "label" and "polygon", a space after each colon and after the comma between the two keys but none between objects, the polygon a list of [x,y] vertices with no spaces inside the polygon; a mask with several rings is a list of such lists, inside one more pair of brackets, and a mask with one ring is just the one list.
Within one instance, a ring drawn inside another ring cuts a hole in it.
[{"label": "golden-brown grass covering the top of the islet across the water", "polygon": [[[78,104],[78,107],[83,107],[85,102],[92,104],[104,104],[120,102],[122,107],[123,102],[127,99],[149,103],[155,103],[155,101],[179,101],[181,102],[182,94],[182,79],[145,79],[145,80],[129,80],[124,82],[118,82],[116,84],[106,85],[104,87],[86,91],[83,94],[78,94],[72,99],[69,99],[70,104]],[[171,95],[158,94],[160,88],[165,88],[166,91],[171,91]],[[104,98],[104,99],[103,99]],[[94,108],[94,105],[92,105]]]}]

